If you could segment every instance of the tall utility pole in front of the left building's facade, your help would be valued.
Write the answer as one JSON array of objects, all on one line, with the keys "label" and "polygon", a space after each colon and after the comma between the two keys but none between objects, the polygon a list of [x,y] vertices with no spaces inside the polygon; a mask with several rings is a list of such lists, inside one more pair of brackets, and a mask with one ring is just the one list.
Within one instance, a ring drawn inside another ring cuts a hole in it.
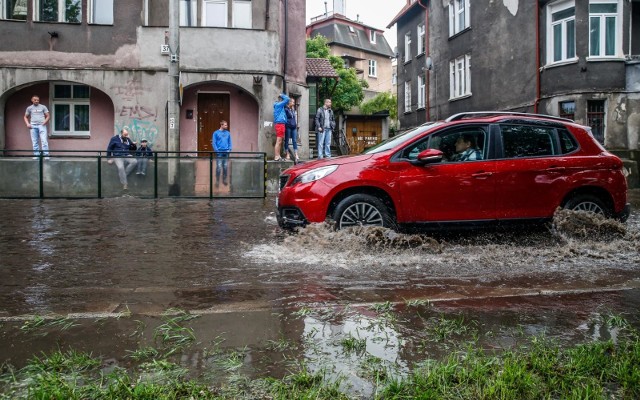
[{"label": "tall utility pole in front of the left building's facade", "polygon": [[[180,151],[180,2],[169,0],[169,102],[167,151]],[[169,196],[180,196],[180,154],[169,153]]]}]

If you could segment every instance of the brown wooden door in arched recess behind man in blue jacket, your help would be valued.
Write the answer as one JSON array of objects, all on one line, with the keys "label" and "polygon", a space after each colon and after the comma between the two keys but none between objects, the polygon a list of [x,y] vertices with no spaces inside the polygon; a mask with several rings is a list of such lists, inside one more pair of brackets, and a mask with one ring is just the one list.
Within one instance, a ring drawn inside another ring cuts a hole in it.
[{"label": "brown wooden door in arched recess behind man in blue jacket", "polygon": [[220,129],[220,121],[229,121],[229,94],[198,94],[198,151],[213,151],[211,136]]}]

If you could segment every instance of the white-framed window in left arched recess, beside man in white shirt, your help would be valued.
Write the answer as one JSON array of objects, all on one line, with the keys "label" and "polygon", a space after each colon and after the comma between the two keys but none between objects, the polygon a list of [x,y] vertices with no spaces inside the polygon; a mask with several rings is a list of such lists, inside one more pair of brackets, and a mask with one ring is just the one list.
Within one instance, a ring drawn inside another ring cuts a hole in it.
[{"label": "white-framed window in left arched recess, beside man in white shirt", "polygon": [[53,84],[53,136],[89,135],[89,86]]}]

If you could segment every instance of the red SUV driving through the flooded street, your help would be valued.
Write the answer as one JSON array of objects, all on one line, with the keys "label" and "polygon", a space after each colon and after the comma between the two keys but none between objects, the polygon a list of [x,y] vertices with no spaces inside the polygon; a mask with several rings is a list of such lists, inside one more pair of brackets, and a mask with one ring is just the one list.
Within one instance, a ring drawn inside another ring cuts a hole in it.
[{"label": "red SUV driving through the flooded street", "polygon": [[457,114],[289,168],[277,207],[285,228],[328,218],[400,230],[549,220],[558,207],[622,221],[630,212],[622,161],[588,127],[505,112]]}]

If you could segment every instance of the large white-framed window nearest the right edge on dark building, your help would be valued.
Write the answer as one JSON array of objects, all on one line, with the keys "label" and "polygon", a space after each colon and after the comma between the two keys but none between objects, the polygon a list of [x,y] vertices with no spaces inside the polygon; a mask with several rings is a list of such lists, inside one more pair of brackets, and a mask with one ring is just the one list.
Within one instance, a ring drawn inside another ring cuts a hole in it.
[{"label": "large white-framed window nearest the right edge on dark building", "polygon": [[615,57],[622,35],[622,4],[618,0],[589,3],[589,56]]}]

